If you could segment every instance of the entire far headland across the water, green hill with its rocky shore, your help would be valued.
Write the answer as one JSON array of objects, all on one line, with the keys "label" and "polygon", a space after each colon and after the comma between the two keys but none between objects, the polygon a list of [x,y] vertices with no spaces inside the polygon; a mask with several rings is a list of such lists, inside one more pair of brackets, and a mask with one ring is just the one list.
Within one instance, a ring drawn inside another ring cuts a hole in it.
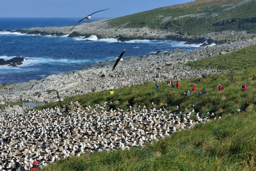
[{"label": "entire far headland across the water, green hill with its rocky shore", "polygon": [[254,0],[197,0],[143,11],[114,19],[71,26],[16,30],[27,34],[64,35],[69,37],[94,34],[101,38],[158,39],[186,41],[187,44],[252,39],[256,35]]}]

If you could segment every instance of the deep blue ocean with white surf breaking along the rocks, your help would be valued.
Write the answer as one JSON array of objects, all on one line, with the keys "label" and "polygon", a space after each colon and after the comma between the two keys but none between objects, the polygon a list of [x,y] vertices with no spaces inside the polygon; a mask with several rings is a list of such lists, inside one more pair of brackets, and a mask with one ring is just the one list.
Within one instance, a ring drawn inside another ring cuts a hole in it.
[{"label": "deep blue ocean with white surf breaking along the rocks", "polygon": [[[49,75],[74,71],[103,60],[116,59],[126,49],[123,58],[167,52],[174,48],[192,51],[199,44],[171,40],[130,40],[114,38],[98,40],[95,35],[68,38],[63,36],[26,35],[10,32],[23,28],[74,26],[74,18],[0,18],[0,59],[25,57],[22,65],[0,65],[0,84],[40,80]],[[93,19],[83,22],[93,22]]]}]

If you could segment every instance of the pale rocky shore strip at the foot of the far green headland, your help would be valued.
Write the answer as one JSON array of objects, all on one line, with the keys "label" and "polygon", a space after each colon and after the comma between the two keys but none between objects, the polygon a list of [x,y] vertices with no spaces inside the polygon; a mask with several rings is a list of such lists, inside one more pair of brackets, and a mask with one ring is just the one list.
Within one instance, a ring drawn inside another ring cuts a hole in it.
[{"label": "pale rocky shore strip at the foot of the far green headland", "polygon": [[[90,23],[82,23],[77,25],[72,31],[69,31],[72,26],[65,27],[44,27],[44,28],[29,28],[18,29],[15,32],[23,34],[41,34],[41,35],[53,35],[62,36],[68,35],[68,37],[83,36],[88,38],[94,34],[99,39],[103,38],[115,38],[119,41],[135,40],[135,39],[148,39],[148,40],[175,40],[185,41],[186,44],[203,44],[207,46],[209,44],[224,44],[234,41],[248,40],[256,37],[255,34],[247,33],[246,31],[233,31],[227,30],[223,32],[207,33],[202,35],[184,35],[180,33],[168,32],[161,29],[143,28],[125,28],[125,25],[112,27],[109,25],[109,20],[100,20]],[[10,30],[9,30],[10,31]]]}]

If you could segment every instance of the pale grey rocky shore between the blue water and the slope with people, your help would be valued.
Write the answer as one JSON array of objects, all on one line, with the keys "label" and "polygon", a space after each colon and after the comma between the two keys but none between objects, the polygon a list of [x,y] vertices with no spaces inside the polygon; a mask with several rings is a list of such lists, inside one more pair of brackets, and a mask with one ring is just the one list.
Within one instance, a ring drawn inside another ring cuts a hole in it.
[{"label": "pale grey rocky shore between the blue water and the slope with people", "polygon": [[57,90],[62,98],[108,89],[129,87],[144,82],[163,82],[200,77],[202,73],[227,72],[220,69],[193,70],[184,65],[222,53],[230,53],[244,47],[256,45],[256,38],[207,46],[190,52],[174,50],[157,52],[154,55],[129,57],[119,62],[111,71],[115,60],[100,62],[80,70],[51,75],[42,80],[14,84],[0,84],[0,102],[52,102],[58,101]]}]

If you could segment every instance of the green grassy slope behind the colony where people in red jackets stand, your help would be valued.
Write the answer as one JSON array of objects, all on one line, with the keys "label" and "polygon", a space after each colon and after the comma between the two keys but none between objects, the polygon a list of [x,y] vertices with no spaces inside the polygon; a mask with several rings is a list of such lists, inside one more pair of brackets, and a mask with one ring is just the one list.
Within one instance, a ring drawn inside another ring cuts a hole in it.
[{"label": "green grassy slope behind the colony where people in red jackets stand", "polygon": [[[237,109],[245,110],[249,104],[255,103],[256,90],[253,89],[256,86],[255,47],[251,46],[233,53],[187,63],[194,68],[204,68],[211,63],[209,68],[231,71],[225,74],[208,75],[206,78],[182,80],[180,89],[165,87],[165,82],[161,82],[162,88],[156,90],[155,83],[149,82],[139,86],[116,89],[114,95],[109,95],[109,91],[105,90],[69,97],[64,100],[63,105],[70,101],[78,101],[82,107],[86,107],[107,101],[106,109],[108,107],[128,109],[129,106],[138,107],[139,105],[153,108],[151,102],[154,102],[158,108],[165,107],[169,110],[173,110],[178,105],[181,110],[185,111],[186,108],[196,105],[196,112],[205,116],[207,112],[214,112],[217,116],[236,113]],[[222,59],[225,59],[225,62]],[[248,91],[241,91],[243,82],[249,85]],[[222,92],[218,92],[219,83],[222,83],[225,88]],[[183,93],[192,90],[193,84],[197,86],[197,93],[192,93],[189,97],[185,96]],[[198,95],[199,90],[207,90],[209,94],[200,96]],[[35,109],[51,108],[57,105],[59,105],[58,102],[47,103],[44,106],[35,107]]]}]

